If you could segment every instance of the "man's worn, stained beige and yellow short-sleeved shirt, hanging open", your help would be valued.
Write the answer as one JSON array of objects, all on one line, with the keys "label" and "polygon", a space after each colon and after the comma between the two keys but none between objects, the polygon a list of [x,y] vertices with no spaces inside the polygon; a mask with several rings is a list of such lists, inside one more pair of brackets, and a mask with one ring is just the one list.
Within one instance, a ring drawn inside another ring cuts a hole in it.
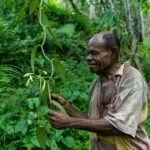
[{"label": "man's worn, stained beige and yellow short-sleeved shirt, hanging open", "polygon": [[[128,63],[116,72],[116,90],[104,110],[101,106],[101,77],[90,89],[89,118],[106,119],[125,136],[102,136],[91,133],[90,150],[150,150],[150,140],[144,130],[147,117],[147,86],[138,70]],[[103,109],[103,110],[102,110]],[[102,111],[106,111],[101,116]]]}]

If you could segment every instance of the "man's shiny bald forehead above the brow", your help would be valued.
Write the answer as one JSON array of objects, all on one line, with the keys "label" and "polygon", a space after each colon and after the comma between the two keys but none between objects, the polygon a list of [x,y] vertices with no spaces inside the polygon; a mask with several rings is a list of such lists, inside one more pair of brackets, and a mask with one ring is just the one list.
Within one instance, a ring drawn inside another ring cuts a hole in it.
[{"label": "man's shiny bald forehead above the brow", "polygon": [[103,34],[94,35],[88,43],[88,46],[100,46],[106,45],[105,40],[103,39]]}]

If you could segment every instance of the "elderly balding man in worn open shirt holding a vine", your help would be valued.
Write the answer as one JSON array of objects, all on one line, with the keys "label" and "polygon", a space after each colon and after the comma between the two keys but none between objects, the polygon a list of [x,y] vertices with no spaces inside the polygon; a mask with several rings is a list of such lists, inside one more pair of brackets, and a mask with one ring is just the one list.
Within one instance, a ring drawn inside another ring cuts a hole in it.
[{"label": "elderly balding man in worn open shirt holding a vine", "polygon": [[97,74],[90,88],[89,112],[81,113],[63,97],[58,101],[69,114],[50,111],[49,121],[58,129],[91,132],[91,150],[150,150],[144,130],[147,87],[138,70],[119,63],[120,42],[112,32],[94,35],[88,44],[90,71]]}]

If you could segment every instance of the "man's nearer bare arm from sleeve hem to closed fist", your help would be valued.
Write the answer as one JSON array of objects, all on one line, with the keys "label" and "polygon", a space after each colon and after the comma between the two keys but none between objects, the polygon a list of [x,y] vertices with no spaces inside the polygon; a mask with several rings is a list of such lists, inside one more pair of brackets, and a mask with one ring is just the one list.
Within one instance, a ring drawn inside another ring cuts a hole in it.
[{"label": "man's nearer bare arm from sleeve hem to closed fist", "polygon": [[123,132],[114,128],[107,120],[90,120],[83,118],[74,118],[65,116],[63,113],[50,111],[49,120],[53,127],[57,129],[76,128],[91,132],[99,133],[100,135],[125,135]]}]

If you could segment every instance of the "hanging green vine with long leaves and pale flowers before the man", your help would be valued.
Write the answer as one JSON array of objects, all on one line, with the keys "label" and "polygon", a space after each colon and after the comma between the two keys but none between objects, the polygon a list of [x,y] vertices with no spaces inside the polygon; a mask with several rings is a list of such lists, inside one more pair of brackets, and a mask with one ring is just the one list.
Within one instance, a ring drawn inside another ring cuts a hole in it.
[{"label": "hanging green vine with long leaves and pale flowers before the man", "polygon": [[[46,19],[46,22],[49,22],[47,20],[46,16],[44,15],[44,13],[42,12],[43,3],[44,3],[44,0],[41,0],[39,3],[39,24],[41,25],[41,27],[43,29],[43,39],[42,39],[41,44],[35,45],[32,49],[32,52],[31,52],[32,72],[26,73],[24,75],[24,77],[28,78],[25,85],[26,85],[26,87],[28,87],[30,85],[30,83],[34,84],[35,80],[38,81],[41,101],[44,101],[46,104],[47,104],[47,101],[49,101],[50,104],[55,105],[60,111],[62,111],[66,114],[66,111],[58,102],[51,100],[51,85],[50,84],[54,84],[54,79],[53,79],[54,68],[57,73],[60,73],[60,77],[62,77],[62,79],[64,78],[64,75],[63,75],[63,66],[61,65],[60,61],[58,61],[57,59],[49,59],[49,57],[46,55],[46,53],[44,51],[44,44],[45,44],[46,38],[47,38],[46,37],[47,31],[49,31],[50,35],[53,37],[53,39],[56,41],[56,43],[58,45],[60,45],[60,43],[57,40],[57,38],[55,37],[55,35],[53,34],[50,26],[47,24],[44,24],[44,22],[42,21],[42,19],[43,19],[42,17],[44,17],[44,19]],[[35,74],[35,59],[36,59],[37,49],[39,47],[41,48],[41,51],[42,51],[42,54],[43,54],[45,60],[50,62],[50,66],[51,66],[50,74],[48,74],[47,71],[45,71],[45,70],[43,70],[38,75]],[[42,118],[40,117],[39,119],[42,119]],[[45,125],[42,125],[42,126],[36,128],[36,136],[39,141],[40,147],[43,150],[46,149],[46,136],[47,136],[46,126],[47,126],[47,124],[48,124],[48,121],[45,123]]]}]

